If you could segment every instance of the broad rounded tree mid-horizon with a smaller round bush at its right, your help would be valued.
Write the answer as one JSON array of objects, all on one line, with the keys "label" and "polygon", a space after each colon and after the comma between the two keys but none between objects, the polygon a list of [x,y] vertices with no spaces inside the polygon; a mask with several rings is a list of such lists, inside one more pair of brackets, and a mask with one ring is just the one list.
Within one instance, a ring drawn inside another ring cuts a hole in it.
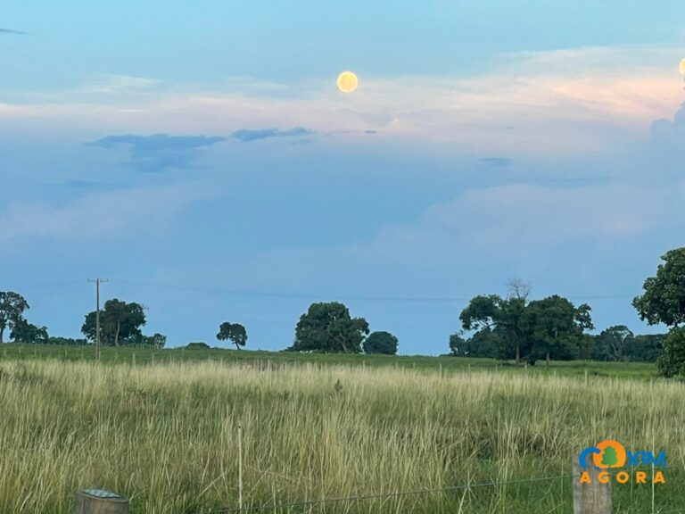
[{"label": "broad rounded tree mid-horizon with a smaller round bush at its right", "polygon": [[359,353],[368,323],[351,318],[342,303],[312,303],[295,327],[294,352]]}]

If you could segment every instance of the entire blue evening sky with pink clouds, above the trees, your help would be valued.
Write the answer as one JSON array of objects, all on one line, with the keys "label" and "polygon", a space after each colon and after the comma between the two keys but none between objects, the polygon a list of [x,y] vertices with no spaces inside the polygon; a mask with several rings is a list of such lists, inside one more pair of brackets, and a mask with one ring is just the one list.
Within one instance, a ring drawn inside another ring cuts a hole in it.
[{"label": "entire blue evening sky with pink clouds, above the trees", "polygon": [[[0,5],[0,290],[79,336],[283,349],[342,301],[449,352],[475,294],[631,307],[685,234],[685,4]],[[353,70],[350,94],[335,84]]]}]

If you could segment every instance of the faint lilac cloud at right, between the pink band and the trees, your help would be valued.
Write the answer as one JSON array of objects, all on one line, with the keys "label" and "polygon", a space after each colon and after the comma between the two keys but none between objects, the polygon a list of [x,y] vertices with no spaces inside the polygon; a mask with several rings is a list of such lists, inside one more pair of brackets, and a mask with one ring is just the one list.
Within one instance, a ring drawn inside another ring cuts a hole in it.
[{"label": "faint lilac cloud at right, between the pink band and the trees", "polygon": [[[429,207],[417,223],[384,228],[357,250],[378,260],[446,264],[469,254],[489,260],[527,259],[569,245],[630,240],[669,218],[683,219],[678,187],[520,183],[474,188]],[[544,215],[541,215],[544,213]]]}]

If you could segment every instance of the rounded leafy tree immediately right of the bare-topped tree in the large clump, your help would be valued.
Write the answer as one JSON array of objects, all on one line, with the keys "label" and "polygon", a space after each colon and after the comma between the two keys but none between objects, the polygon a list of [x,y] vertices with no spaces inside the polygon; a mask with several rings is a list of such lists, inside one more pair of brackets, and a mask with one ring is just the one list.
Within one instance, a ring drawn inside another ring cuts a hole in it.
[{"label": "rounded leafy tree immediately right of the bare-topped tree in the large clump", "polygon": [[585,330],[593,328],[590,311],[587,303],[576,308],[557,294],[531,302],[524,324],[532,339],[532,357],[544,355],[549,365],[553,356],[565,359],[577,356],[585,341]]}]

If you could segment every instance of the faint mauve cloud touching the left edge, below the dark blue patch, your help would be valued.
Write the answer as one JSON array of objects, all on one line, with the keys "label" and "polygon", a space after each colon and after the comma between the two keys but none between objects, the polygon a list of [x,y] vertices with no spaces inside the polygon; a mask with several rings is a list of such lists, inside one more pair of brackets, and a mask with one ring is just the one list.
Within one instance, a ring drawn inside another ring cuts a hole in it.
[{"label": "faint mauve cloud touching the left edge, below the dark blue patch", "polygon": [[126,235],[130,228],[150,228],[186,205],[212,195],[208,187],[182,182],[95,193],[61,206],[15,203],[0,214],[0,242],[31,236],[83,240]]}]

